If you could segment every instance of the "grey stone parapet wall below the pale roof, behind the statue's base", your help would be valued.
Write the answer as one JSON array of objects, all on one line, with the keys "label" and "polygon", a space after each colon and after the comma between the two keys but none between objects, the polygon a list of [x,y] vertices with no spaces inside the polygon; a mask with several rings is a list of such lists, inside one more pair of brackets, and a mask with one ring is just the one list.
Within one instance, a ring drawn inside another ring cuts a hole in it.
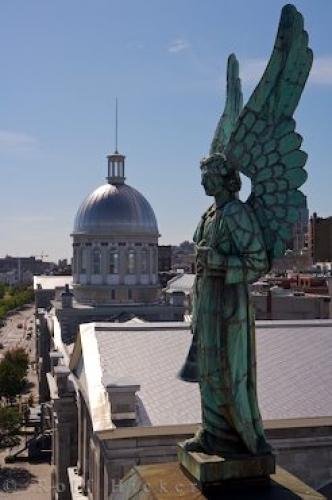
[{"label": "grey stone parapet wall below the pale roof, behind the statue's base", "polygon": [[[279,429],[277,432],[268,429],[267,435],[277,455],[278,465],[314,489],[332,481],[332,427]],[[188,437],[191,436],[103,441],[104,479],[110,488],[109,493],[117,488],[120,479],[135,465],[176,461],[176,444]]]}]

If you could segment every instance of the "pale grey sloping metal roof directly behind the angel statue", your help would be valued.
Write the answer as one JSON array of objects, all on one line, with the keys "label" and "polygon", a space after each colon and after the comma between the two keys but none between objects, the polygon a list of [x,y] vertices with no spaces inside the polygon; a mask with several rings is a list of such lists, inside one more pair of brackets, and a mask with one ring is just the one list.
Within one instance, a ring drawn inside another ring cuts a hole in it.
[{"label": "pale grey sloping metal roof directly behind the angel statue", "polygon": [[[256,331],[263,419],[332,416],[332,323],[266,323]],[[85,325],[83,334],[96,339],[94,362],[103,378],[130,376],[140,384],[140,425],[200,422],[197,385],[177,379],[191,342],[188,325],[97,323]]]}]

